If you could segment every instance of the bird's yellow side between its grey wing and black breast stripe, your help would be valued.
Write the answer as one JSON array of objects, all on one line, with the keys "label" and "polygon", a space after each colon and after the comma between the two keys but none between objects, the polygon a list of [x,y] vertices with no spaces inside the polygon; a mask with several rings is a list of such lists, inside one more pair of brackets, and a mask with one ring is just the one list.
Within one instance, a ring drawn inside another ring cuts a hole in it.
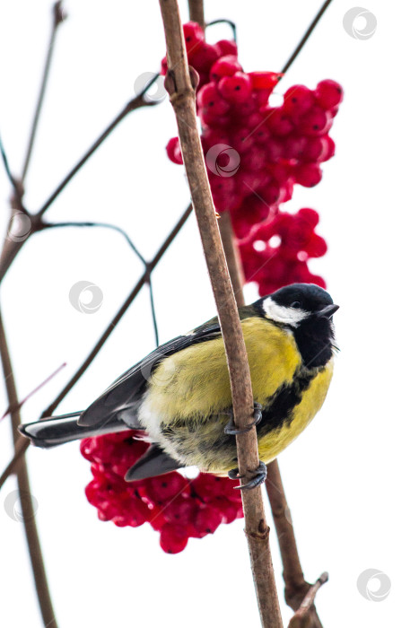
[{"label": "bird's yellow side between its grey wing and black breast stripe", "polygon": [[[241,321],[253,397],[264,405],[275,390],[291,383],[301,355],[291,333],[266,318]],[[164,359],[153,373],[148,411],[162,423],[200,418],[231,407],[223,338],[207,340]]]}]

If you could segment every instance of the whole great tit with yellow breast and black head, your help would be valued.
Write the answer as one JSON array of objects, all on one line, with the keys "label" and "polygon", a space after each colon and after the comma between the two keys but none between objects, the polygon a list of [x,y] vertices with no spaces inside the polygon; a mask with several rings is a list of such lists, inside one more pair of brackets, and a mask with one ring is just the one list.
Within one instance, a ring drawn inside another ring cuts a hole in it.
[{"label": "whole great tit with yellow breast and black head", "polygon": [[[266,463],[322,406],[333,371],[332,317],[338,307],[319,286],[294,283],[240,308],[260,458],[244,487],[265,480]],[[189,466],[237,477],[237,430],[218,318],[159,346],[87,410],[20,426],[44,448],[127,429],[147,432],[153,443],[127,480]]]}]

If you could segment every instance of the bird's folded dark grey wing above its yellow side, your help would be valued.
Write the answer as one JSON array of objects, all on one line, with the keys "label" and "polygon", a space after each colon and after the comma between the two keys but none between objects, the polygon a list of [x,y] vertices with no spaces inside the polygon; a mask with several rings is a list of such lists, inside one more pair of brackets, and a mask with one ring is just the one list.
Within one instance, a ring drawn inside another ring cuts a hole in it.
[{"label": "bird's folded dark grey wing above its yellow side", "polygon": [[172,353],[221,335],[218,318],[212,318],[184,336],[178,336],[149,353],[141,362],[123,373],[80,415],[79,425],[100,425],[109,417],[118,418],[128,428],[138,429],[137,408],[156,366]]}]

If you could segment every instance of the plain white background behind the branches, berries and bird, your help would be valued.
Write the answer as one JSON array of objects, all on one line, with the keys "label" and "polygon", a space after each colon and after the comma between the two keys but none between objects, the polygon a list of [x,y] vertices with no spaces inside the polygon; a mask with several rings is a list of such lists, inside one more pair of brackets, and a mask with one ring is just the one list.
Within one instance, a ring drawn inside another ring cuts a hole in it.
[{"label": "plain white background behind the branches, berries and bird", "polygon": [[[245,70],[280,70],[318,5],[212,0],[206,17],[237,23]],[[336,157],[325,164],[317,188],[296,188],[286,205],[319,211],[319,233],[329,250],[310,267],[327,279],[341,305],[335,318],[342,351],[327,403],[280,457],[306,577],[330,572],[317,602],[329,628],[404,624],[417,596],[417,14],[411,3],[368,0],[378,28],[371,39],[357,40],[342,24],[353,5],[336,0],[329,7],[277,96],[280,102],[292,84],[314,88],[324,78],[345,88],[331,133]],[[27,179],[31,210],[132,98],[135,78],[158,69],[164,54],[157,0],[67,0],[65,8],[69,18],[58,33]],[[181,10],[186,20],[186,2]],[[15,173],[22,168],[38,94],[49,13],[48,0],[9,1],[0,11],[0,130]],[[209,39],[226,36],[225,27]],[[132,113],[59,196],[48,219],[116,222],[144,256],[153,256],[188,205],[182,169],[164,151],[175,133],[168,100]],[[5,231],[9,186],[2,169],[0,194]],[[24,406],[24,420],[36,419],[48,406],[141,271],[114,232],[50,231],[24,246],[1,289],[20,396],[67,362]],[[213,316],[193,217],[153,277],[161,341]],[[71,286],[81,280],[98,284],[104,294],[95,314],[83,315],[68,300]],[[249,302],[257,296],[253,286],[246,294]],[[86,406],[151,349],[144,290],[59,411]],[[5,408],[3,390],[1,395]],[[8,421],[0,424],[1,467],[12,455]],[[31,449],[27,458],[61,628],[258,625],[242,520],[192,539],[181,554],[164,554],[148,525],[117,528],[97,519],[84,497],[91,475],[77,444]],[[4,511],[4,499],[14,490],[10,478],[0,503],[0,615],[4,626],[37,628],[22,523]],[[275,536],[272,541],[282,596]],[[384,601],[369,601],[357,590],[358,576],[370,568],[391,580]],[[284,601],[282,608],[288,619]]]}]

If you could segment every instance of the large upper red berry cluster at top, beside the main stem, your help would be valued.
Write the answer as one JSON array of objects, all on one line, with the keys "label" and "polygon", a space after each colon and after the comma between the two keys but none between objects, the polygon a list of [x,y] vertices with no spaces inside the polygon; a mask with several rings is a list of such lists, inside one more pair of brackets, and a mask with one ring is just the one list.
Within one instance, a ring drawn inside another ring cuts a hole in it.
[{"label": "large upper red berry cluster at top, beside the main stem", "polygon": [[[200,77],[196,106],[214,205],[231,212],[236,235],[243,238],[291,198],[295,183],[319,183],[319,164],[335,153],[327,133],[343,91],[331,80],[314,91],[294,85],[281,107],[269,107],[277,73],[244,73],[235,44],[205,43],[195,22],[185,24],[184,32],[189,65]],[[163,60],[163,73],[166,67]],[[178,138],[167,152],[171,161],[182,162]]]}]

